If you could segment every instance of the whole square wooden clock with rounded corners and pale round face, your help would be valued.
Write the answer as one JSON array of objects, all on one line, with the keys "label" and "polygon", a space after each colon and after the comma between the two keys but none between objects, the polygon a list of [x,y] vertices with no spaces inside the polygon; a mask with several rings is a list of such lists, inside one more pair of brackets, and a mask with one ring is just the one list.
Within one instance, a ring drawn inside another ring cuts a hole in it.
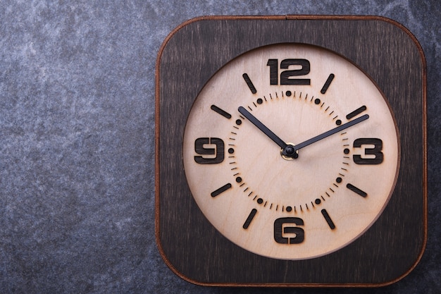
[{"label": "whole square wooden clock with rounded corners and pale round face", "polygon": [[383,286],[426,245],[426,63],[364,16],[204,17],[156,63],[156,240],[206,286]]}]

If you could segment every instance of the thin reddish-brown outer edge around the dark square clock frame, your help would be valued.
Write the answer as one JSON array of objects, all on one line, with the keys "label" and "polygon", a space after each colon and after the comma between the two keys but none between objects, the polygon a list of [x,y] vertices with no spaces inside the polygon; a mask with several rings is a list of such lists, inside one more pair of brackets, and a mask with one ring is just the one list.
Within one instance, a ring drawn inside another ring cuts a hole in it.
[{"label": "thin reddish-brown outer edge around the dark square clock frame", "polygon": [[[170,263],[168,258],[166,257],[165,252],[163,252],[163,248],[161,246],[161,240],[159,236],[159,229],[160,229],[160,207],[159,207],[159,174],[160,174],[160,165],[159,165],[159,136],[160,136],[160,111],[159,111],[159,101],[161,99],[159,95],[159,76],[160,76],[160,63],[161,63],[161,57],[163,54],[163,50],[166,47],[166,44],[168,41],[175,35],[176,32],[182,29],[182,27],[185,27],[187,25],[190,25],[190,23],[194,23],[201,20],[379,20],[384,21],[386,23],[390,23],[391,25],[395,25],[396,27],[399,27],[399,29],[406,32],[407,35],[412,39],[416,47],[418,48],[418,51],[421,56],[421,62],[423,65],[423,226],[424,226],[424,232],[423,232],[423,246],[421,247],[421,252],[416,258],[414,264],[406,271],[402,276],[399,276],[395,280],[387,281],[385,283],[375,283],[375,284],[364,284],[364,283],[345,283],[345,284],[327,284],[327,283],[203,283],[199,281],[194,281],[187,276],[183,275],[173,267],[173,264]],[[198,286],[211,286],[211,287],[277,287],[277,288],[378,288],[383,286],[389,286],[393,283],[396,283],[397,281],[402,280],[402,278],[408,276],[411,271],[415,269],[415,267],[420,262],[421,258],[423,257],[424,251],[426,250],[427,245],[427,238],[428,238],[428,205],[427,205],[427,196],[428,196],[428,187],[427,187],[427,106],[426,106],[426,100],[427,100],[427,63],[426,63],[426,56],[424,55],[423,48],[421,47],[421,44],[418,42],[418,39],[410,32],[409,29],[407,29],[404,25],[401,23],[398,23],[396,20],[392,20],[390,18],[386,18],[383,16],[338,16],[338,15],[287,15],[287,16],[199,16],[197,18],[192,18],[190,20],[185,21],[184,23],[181,23],[178,25],[178,27],[175,27],[166,39],[164,39],[163,43],[161,44],[161,47],[159,48],[158,56],[156,58],[156,65],[155,65],[155,238],[156,238],[156,245],[159,249],[159,253],[161,257],[163,258],[164,262],[167,264],[167,266],[180,278],[182,278],[185,281],[188,281],[190,283],[193,283]]]}]

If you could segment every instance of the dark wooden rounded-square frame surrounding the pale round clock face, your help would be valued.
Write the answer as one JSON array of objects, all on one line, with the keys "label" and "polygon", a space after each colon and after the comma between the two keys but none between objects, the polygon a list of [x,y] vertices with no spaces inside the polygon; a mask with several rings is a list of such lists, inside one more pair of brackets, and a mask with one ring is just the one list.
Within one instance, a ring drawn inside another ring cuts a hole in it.
[{"label": "dark wooden rounded-square frame surrounding the pale round clock face", "polygon": [[[387,206],[359,238],[319,257],[278,259],[235,245],[206,219],[185,176],[185,125],[198,94],[225,63],[271,44],[309,44],[343,56],[378,85],[395,114],[399,172]],[[416,38],[393,20],[373,16],[189,20],[170,33],[156,61],[155,135],[156,242],[168,267],[187,281],[204,286],[384,286],[409,274],[423,255],[426,61]]]}]

